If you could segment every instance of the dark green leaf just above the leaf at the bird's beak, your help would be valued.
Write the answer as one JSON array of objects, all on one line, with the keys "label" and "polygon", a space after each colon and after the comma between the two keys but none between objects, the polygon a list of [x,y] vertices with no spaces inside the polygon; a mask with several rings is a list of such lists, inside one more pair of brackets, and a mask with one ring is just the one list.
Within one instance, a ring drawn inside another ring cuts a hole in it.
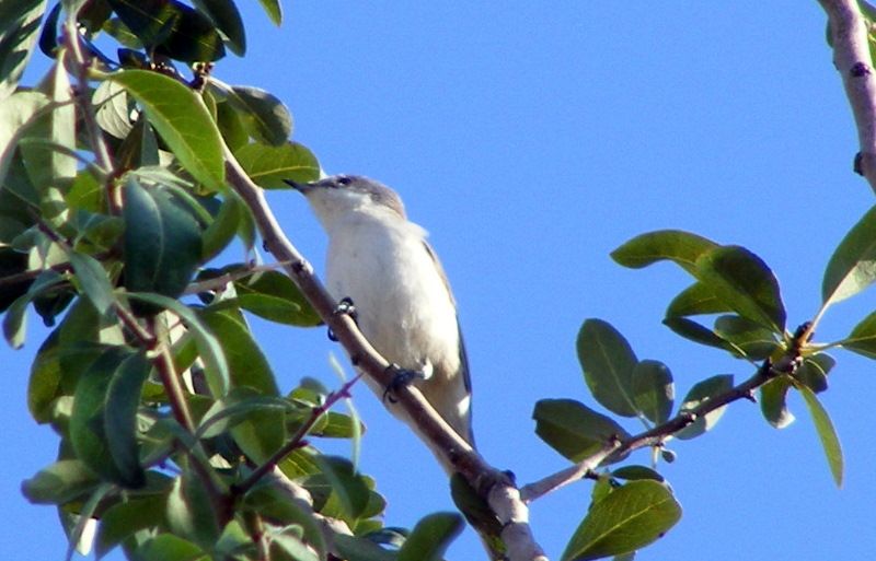
[{"label": "dark green leaf just above the leaf at the bird's beak", "polygon": [[277,96],[249,85],[234,85],[222,93],[241,112],[250,136],[274,147],[288,142],[292,136],[292,114]]}]

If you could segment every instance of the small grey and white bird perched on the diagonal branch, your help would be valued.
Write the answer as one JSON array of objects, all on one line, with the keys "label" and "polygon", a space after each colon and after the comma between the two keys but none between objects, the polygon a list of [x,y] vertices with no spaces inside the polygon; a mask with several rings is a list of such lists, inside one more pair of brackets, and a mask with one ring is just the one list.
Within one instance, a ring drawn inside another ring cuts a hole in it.
[{"label": "small grey and white bird perched on the diagonal branch", "polygon": [[[328,234],[328,292],[353,301],[359,329],[388,361],[423,373],[413,383],[474,445],[471,379],[457,306],[426,231],[407,220],[395,191],[367,177],[287,183],[308,198]],[[384,396],[387,388],[366,382]],[[387,406],[419,434],[401,408]]]}]

